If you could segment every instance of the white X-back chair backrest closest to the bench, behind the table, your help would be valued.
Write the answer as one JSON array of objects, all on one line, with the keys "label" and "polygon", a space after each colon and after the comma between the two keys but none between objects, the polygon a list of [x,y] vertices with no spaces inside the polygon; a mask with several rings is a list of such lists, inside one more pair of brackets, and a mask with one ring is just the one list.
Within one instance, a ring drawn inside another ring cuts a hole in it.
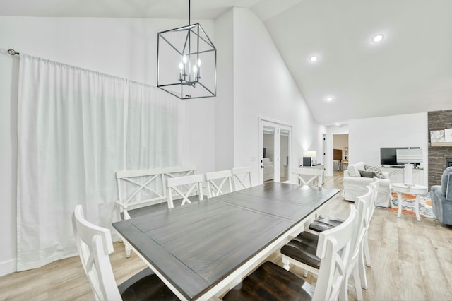
[{"label": "white X-back chair backrest closest to the bench, behind the table", "polygon": [[[203,175],[189,175],[186,177],[172,177],[167,179],[168,208],[174,208],[172,192],[182,197],[181,206],[191,203],[189,196],[198,195],[203,200]],[[196,191],[196,194],[194,192]],[[179,199],[179,198],[178,198]]]}]

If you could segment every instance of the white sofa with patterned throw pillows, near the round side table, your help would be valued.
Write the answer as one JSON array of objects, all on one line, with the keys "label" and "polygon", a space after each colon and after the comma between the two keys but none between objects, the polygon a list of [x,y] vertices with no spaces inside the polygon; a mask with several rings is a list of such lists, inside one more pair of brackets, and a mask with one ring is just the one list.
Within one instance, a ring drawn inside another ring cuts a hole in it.
[{"label": "white sofa with patterned throw pillows, near the round side table", "polygon": [[379,192],[375,202],[379,207],[391,207],[391,182],[388,172],[379,167],[365,165],[364,162],[349,164],[344,170],[343,196],[346,201],[356,201],[358,196],[367,193],[367,185],[379,178]]}]

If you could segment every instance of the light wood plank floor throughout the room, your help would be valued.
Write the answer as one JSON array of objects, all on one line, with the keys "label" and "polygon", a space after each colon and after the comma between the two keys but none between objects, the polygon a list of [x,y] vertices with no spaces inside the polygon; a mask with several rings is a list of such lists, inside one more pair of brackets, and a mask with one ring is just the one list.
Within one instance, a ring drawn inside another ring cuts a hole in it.
[{"label": "light wood plank floor throughout the room", "polygon": [[[324,187],[342,189],[342,172],[326,177]],[[347,206],[340,194],[322,212],[345,218]],[[369,229],[371,268],[364,300],[452,300],[452,228],[437,220],[376,209]],[[124,246],[114,243],[110,257],[117,283],[145,267],[135,254],[126,259]],[[282,266],[280,254],[269,258]],[[293,273],[302,275],[297,267]],[[315,283],[315,276],[307,281]],[[32,271],[0,277],[0,300],[90,300],[90,285],[78,257],[63,259]],[[350,290],[350,300],[356,300]]]}]

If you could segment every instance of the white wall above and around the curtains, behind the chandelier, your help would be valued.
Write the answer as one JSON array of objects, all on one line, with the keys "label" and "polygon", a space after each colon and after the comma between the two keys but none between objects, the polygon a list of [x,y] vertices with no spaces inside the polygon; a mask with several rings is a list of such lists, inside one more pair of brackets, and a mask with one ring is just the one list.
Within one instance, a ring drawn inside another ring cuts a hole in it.
[{"label": "white wall above and around the curtains, behind the chandelier", "polygon": [[[213,21],[201,20],[213,39]],[[16,270],[18,57],[6,49],[155,85],[157,33],[186,20],[0,17],[0,276]],[[178,100],[179,101],[179,100]],[[180,100],[182,101],[182,100]],[[186,100],[184,160],[198,172],[214,168],[213,98]]]}]

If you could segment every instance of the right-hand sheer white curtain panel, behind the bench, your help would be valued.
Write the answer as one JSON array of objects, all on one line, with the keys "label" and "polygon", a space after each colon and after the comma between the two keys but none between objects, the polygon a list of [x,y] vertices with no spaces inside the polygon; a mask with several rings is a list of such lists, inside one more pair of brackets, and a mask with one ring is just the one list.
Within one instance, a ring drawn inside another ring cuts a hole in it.
[{"label": "right-hand sheer white curtain panel, behind the bench", "polygon": [[185,102],[133,81],[128,90],[126,169],[182,165]]}]

